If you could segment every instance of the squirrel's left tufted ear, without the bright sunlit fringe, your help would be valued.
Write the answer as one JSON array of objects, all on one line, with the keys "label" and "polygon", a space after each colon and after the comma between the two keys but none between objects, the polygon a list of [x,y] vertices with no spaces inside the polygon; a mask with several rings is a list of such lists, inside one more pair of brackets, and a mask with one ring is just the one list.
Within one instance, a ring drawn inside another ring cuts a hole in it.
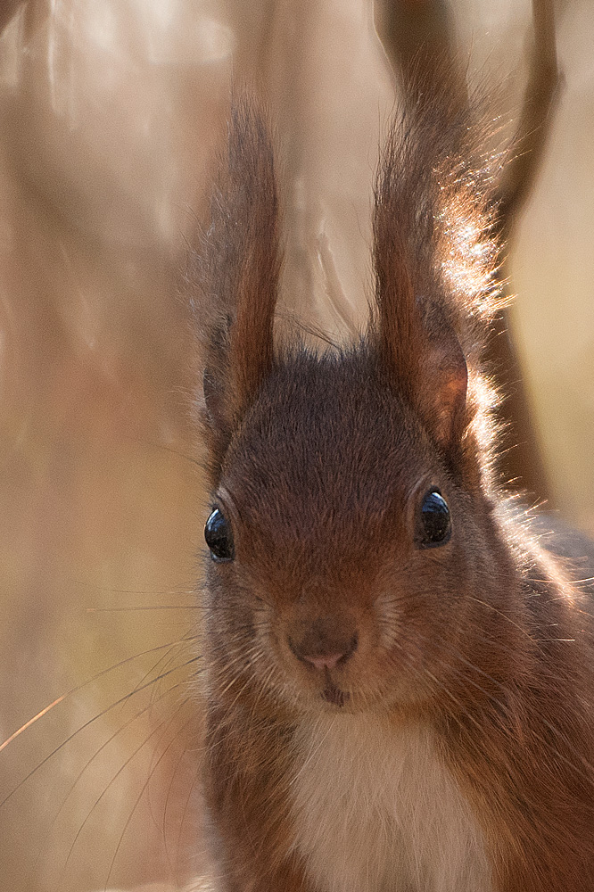
[{"label": "squirrel's left tufted ear, without the bright sunlit fringe", "polygon": [[235,101],[227,159],[196,259],[204,434],[215,465],[269,375],[281,257],[273,149],[262,113]]}]

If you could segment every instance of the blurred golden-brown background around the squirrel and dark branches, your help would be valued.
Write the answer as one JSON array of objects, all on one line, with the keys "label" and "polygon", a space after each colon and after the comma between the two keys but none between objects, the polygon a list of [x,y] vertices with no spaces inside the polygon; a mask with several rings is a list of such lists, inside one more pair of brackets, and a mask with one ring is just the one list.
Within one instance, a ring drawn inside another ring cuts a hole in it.
[{"label": "blurred golden-brown background around the squirrel and dark branches", "polygon": [[[450,11],[469,77],[507,78],[496,111],[514,115],[530,4]],[[183,279],[231,82],[260,85],[283,146],[283,313],[343,336],[367,313],[398,81],[370,0],[4,0],[0,25],[0,744],[63,697],[0,750],[0,887],[181,889],[207,870]],[[594,533],[590,0],[557,4],[557,52],[512,324],[535,499]]]}]

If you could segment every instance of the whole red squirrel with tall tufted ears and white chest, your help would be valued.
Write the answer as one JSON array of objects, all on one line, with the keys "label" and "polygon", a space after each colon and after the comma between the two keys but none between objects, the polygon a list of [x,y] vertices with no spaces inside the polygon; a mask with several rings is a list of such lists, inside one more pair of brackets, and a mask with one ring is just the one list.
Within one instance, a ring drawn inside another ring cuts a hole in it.
[{"label": "whole red squirrel with tall tufted ears and white chest", "polygon": [[275,151],[232,112],[196,312],[220,892],[594,890],[588,593],[493,470],[500,160],[471,104],[396,116],[367,331],[319,355],[275,343]]}]

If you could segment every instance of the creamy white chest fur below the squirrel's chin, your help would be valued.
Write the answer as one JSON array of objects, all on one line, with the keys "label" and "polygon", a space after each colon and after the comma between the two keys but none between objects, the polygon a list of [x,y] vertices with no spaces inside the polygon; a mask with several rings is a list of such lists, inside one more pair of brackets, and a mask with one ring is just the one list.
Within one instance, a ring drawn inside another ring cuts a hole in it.
[{"label": "creamy white chest fur below the squirrel's chin", "polygon": [[319,892],[491,892],[482,832],[431,729],[322,716],[297,747],[294,848]]}]

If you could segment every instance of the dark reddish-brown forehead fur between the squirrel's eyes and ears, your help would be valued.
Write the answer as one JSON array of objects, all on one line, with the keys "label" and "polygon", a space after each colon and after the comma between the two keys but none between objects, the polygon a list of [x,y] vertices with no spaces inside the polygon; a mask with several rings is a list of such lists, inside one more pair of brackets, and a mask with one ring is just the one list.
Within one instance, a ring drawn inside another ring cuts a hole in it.
[{"label": "dark reddish-brown forehead fur between the squirrel's eyes and ears", "polygon": [[[263,385],[227,454],[222,483],[243,521],[314,538],[380,523],[419,480],[434,450],[366,347],[301,350]],[[439,472],[438,472],[439,473]],[[308,533],[309,531],[309,533]]]}]

